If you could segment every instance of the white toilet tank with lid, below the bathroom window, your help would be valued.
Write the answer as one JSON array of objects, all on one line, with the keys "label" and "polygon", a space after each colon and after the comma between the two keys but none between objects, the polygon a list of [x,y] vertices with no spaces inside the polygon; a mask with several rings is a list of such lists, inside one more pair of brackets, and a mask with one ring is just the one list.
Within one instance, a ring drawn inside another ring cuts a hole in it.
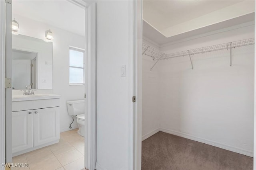
[{"label": "white toilet tank with lid, below the bathroom window", "polygon": [[71,116],[84,114],[84,100],[67,101],[68,114]]}]

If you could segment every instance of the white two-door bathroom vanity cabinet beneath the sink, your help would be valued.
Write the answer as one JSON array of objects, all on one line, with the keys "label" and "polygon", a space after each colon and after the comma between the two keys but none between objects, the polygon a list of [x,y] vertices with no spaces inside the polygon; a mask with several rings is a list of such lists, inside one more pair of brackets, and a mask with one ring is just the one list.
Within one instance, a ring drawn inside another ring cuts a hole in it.
[{"label": "white two-door bathroom vanity cabinet beneath the sink", "polygon": [[58,95],[12,99],[13,156],[58,143],[59,106]]}]

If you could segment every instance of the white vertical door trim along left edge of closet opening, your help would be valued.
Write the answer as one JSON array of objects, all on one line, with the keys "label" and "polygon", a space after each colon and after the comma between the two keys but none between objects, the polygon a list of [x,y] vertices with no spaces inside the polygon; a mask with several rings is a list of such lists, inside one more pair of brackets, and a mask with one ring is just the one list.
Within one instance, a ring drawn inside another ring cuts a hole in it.
[{"label": "white vertical door trim along left edge of closet opening", "polygon": [[142,138],[142,0],[134,1],[134,148],[133,170],[141,170]]}]

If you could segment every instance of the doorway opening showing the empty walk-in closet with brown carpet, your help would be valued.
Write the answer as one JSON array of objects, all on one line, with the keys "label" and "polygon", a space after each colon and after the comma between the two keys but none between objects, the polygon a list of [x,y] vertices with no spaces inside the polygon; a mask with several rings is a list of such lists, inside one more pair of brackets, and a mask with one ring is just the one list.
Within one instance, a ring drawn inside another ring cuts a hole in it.
[{"label": "doorway opening showing the empty walk-in closet with brown carpet", "polygon": [[254,2],[144,1],[143,20],[142,170],[253,169]]}]

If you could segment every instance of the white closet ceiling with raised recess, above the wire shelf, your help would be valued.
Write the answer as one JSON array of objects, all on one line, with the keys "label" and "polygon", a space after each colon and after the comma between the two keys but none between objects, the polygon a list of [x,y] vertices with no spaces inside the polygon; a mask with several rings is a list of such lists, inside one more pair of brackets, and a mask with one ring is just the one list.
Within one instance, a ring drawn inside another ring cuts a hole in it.
[{"label": "white closet ceiling with raised recess, above the wire shelf", "polygon": [[254,20],[254,0],[144,0],[143,35],[158,44]]}]

